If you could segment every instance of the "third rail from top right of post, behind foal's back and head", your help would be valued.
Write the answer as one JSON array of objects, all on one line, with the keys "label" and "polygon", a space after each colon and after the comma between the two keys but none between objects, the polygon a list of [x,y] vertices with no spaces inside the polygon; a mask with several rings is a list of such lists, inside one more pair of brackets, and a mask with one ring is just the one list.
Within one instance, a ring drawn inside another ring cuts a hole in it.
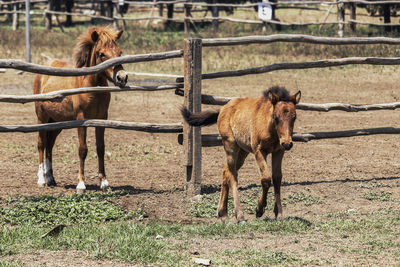
[{"label": "third rail from top right of post, behind foal's back and head", "polygon": [[[178,88],[175,89],[175,94],[183,96],[184,91]],[[236,98],[237,97],[223,97],[223,96],[212,96],[212,95],[202,94],[201,103],[206,105],[222,106]],[[298,103],[296,105],[296,109],[299,110],[320,111],[320,112],[328,112],[333,110],[346,111],[346,112],[359,112],[359,111],[371,111],[371,110],[395,110],[398,108],[400,108],[400,102],[384,103],[384,104]]]}]

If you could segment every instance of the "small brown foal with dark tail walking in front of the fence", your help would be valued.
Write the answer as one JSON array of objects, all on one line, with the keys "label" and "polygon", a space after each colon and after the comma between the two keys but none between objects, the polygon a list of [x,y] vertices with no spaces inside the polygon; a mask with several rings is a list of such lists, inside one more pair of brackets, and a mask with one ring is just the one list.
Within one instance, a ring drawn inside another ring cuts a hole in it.
[{"label": "small brown foal with dark tail walking in front of the fence", "polygon": [[[229,189],[232,190],[235,216],[244,221],[238,192],[238,171],[249,153],[255,155],[260,168],[262,193],[258,200],[256,216],[264,214],[268,189],[273,182],[275,189],[275,218],[282,216],[281,181],[282,158],[285,150],[293,146],[292,134],[296,120],[295,105],[300,101],[301,92],[294,95],[282,87],[274,86],[258,98],[237,98],[221,110],[193,114],[182,108],[184,119],[192,126],[205,126],[218,122],[222,136],[227,164],[225,165],[218,217],[227,217]],[[272,154],[272,179],[267,166],[267,155]]]}]

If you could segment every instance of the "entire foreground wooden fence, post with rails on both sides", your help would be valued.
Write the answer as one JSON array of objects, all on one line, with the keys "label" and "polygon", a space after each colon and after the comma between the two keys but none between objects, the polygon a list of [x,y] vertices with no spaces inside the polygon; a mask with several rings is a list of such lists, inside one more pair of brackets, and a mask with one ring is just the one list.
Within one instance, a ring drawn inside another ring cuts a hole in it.
[{"label": "entire foreground wooden fence, post with rails on both sides", "polygon": [[[271,36],[248,36],[238,38],[216,38],[198,39],[190,38],[184,40],[184,49],[168,51],[155,54],[127,55],[115,59],[110,59],[94,67],[83,69],[63,69],[45,67],[37,64],[26,63],[20,60],[0,59],[0,68],[13,68],[33,73],[41,73],[56,76],[81,76],[93,74],[105,69],[127,63],[143,61],[167,60],[170,58],[184,58],[184,76],[176,78],[175,83],[160,84],[156,86],[130,86],[119,87],[94,87],[77,88],[39,95],[0,95],[0,102],[27,103],[33,101],[61,101],[64,97],[73,94],[86,92],[122,92],[122,91],[157,91],[175,90],[175,93],[184,96],[184,105],[192,112],[200,112],[201,104],[224,105],[232,98],[218,97],[201,94],[202,79],[215,79],[221,77],[234,77],[250,74],[265,73],[278,69],[302,69],[320,68],[348,64],[374,64],[374,65],[400,65],[400,58],[339,58],[331,60],[320,60],[311,62],[297,63],[277,63],[264,67],[250,68],[244,70],[233,70],[216,73],[202,73],[202,49],[203,46],[222,46],[222,45],[243,45],[250,43],[271,43],[271,42],[308,42],[327,45],[349,45],[349,44],[400,44],[400,39],[395,38],[328,38],[307,35],[271,35]],[[184,90],[182,90],[184,88]],[[359,112],[366,110],[392,110],[400,108],[400,102],[370,105],[351,105],[342,103],[311,104],[300,103],[297,105],[300,110],[310,111],[331,111],[342,110],[347,112]],[[201,135],[199,127],[191,127],[185,122],[172,124],[153,124],[139,122],[121,122],[111,120],[77,120],[68,122],[48,123],[40,125],[1,125],[0,132],[34,132],[40,130],[70,129],[77,127],[105,127],[123,130],[136,130],[156,133],[182,133],[178,135],[178,142],[184,145],[184,170],[186,191],[188,196],[200,193],[201,185],[201,158],[202,146],[221,145],[221,137],[217,134]],[[294,133],[293,140],[307,142],[314,139],[339,138],[371,134],[400,134],[400,128],[383,127],[371,129],[355,129],[348,131],[335,132],[311,132]]]}]

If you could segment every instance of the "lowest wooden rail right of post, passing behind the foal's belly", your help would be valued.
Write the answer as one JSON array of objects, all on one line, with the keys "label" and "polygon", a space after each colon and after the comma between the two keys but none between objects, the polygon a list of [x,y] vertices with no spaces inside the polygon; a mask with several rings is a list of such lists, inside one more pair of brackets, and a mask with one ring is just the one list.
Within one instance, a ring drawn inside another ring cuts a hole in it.
[{"label": "lowest wooden rail right of post, passing behind the foal's belly", "polygon": [[[347,131],[293,133],[293,141],[309,142],[311,140],[345,138],[345,137],[376,135],[376,134],[400,134],[400,128],[380,127],[380,128],[368,128],[368,129],[355,129]],[[183,142],[183,134],[179,134],[178,143],[182,145],[182,142]],[[203,134],[201,135],[201,144],[203,147],[222,146],[222,137],[219,134]]]}]

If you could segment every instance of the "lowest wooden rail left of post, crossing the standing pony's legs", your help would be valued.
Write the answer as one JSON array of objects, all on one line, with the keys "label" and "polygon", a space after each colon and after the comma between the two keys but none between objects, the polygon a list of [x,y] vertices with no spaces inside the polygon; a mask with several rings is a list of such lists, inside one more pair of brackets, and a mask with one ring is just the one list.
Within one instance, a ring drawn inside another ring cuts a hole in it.
[{"label": "lowest wooden rail left of post, crossing the standing pony's legs", "polygon": [[53,131],[78,127],[104,127],[117,130],[135,130],[148,133],[181,133],[182,123],[155,124],[146,122],[124,122],[114,120],[82,119],[76,121],[52,122],[35,125],[0,125],[0,132],[31,133],[38,131]]}]

